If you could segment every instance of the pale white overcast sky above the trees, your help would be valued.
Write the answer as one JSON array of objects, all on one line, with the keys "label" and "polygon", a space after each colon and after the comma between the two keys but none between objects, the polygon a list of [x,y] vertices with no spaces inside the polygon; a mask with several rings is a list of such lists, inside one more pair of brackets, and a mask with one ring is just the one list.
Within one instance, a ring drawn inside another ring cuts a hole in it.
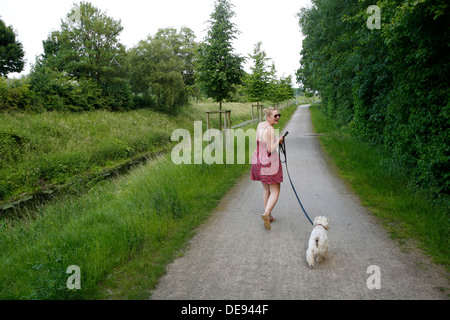
[{"label": "pale white overcast sky above the trees", "polygon": [[[43,53],[42,41],[53,30],[59,30],[61,19],[75,0],[2,0],[0,17],[12,25],[23,44],[27,74],[35,57]],[[159,28],[182,26],[192,29],[197,41],[202,41],[209,27],[207,21],[214,9],[214,0],[91,0],[95,7],[114,19],[120,19],[121,42],[135,46]],[[278,76],[292,75],[299,68],[303,36],[296,14],[309,6],[310,0],[231,0],[236,16],[233,22],[240,34],[234,42],[235,52],[248,56],[254,45],[262,41],[263,50],[275,62]],[[249,65],[245,66],[247,72]],[[10,74],[9,77],[17,76]]]}]

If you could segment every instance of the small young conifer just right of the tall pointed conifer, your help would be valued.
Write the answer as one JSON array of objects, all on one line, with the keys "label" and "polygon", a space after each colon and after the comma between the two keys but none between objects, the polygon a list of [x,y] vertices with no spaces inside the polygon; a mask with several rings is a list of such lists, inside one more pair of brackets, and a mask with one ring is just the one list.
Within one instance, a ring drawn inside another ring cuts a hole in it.
[{"label": "small young conifer just right of the tall pointed conifer", "polygon": [[266,62],[270,60],[267,54],[261,49],[262,42],[258,42],[250,58],[253,65],[250,67],[252,73],[246,77],[245,92],[248,95],[249,102],[261,102],[268,96],[269,72]]}]

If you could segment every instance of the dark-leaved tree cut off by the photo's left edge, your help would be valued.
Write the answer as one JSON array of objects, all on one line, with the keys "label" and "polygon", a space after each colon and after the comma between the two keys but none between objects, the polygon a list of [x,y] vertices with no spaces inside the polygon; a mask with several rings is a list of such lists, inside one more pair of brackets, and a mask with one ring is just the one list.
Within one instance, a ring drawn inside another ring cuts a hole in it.
[{"label": "dark-leaved tree cut off by the photo's left edge", "polygon": [[0,19],[0,76],[21,72],[25,65],[24,55],[22,43],[16,40],[12,27],[7,27]]}]

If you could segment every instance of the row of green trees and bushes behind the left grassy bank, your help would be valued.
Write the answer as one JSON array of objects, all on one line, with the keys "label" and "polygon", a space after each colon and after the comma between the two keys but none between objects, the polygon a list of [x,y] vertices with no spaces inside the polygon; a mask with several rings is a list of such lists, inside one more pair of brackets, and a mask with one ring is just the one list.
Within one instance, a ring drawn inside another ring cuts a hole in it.
[{"label": "row of green trees and bushes behind the left grassy bank", "polygon": [[[225,5],[225,0],[216,3]],[[121,111],[151,107],[174,113],[190,97],[209,97],[198,81],[199,58],[204,56],[205,45],[196,42],[191,29],[162,28],[129,49],[119,41],[122,30],[120,20],[108,17],[92,4],[75,4],[60,29],[43,41],[44,53],[37,57],[31,72],[9,80],[8,73],[22,71],[24,53],[13,28],[0,20],[0,76],[4,76],[0,77],[0,111]],[[211,54],[213,58],[220,56]],[[240,72],[241,66],[236,69]],[[228,101],[245,102],[249,75],[237,71],[240,79],[231,84],[231,89],[226,88],[225,96]],[[266,98],[274,104],[293,96],[290,77],[277,79],[274,73],[267,81],[275,90]]]}]

